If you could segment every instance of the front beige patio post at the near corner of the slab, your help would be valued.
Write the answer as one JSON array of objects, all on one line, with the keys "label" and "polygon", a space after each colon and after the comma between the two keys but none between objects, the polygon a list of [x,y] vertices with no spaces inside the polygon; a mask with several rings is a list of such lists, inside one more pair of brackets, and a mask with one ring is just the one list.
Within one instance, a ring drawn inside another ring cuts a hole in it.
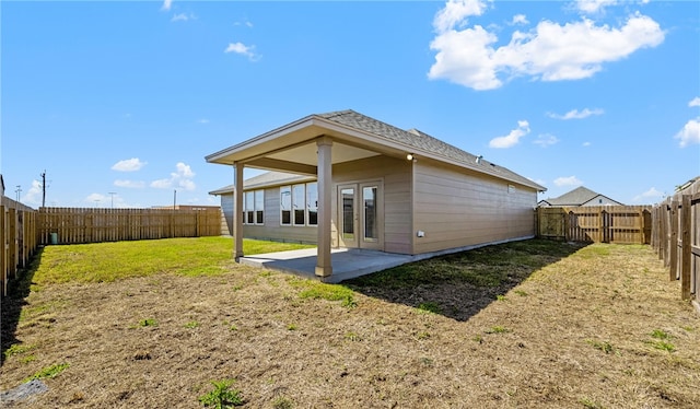
[{"label": "front beige patio post at the near corner of the slab", "polygon": [[331,207],[331,178],[332,163],[330,153],[332,140],[320,137],[316,140],[318,148],[318,247],[316,255],[316,276],[328,277],[332,274],[330,262],[330,207]]}]

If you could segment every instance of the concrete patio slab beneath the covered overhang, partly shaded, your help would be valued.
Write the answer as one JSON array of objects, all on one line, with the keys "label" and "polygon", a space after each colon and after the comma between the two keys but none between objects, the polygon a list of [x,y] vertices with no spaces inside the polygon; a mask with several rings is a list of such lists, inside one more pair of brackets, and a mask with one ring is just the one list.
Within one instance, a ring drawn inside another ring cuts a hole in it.
[{"label": "concrete patio slab beneath the covered overhang, partly shaded", "polygon": [[334,248],[331,250],[332,274],[324,278],[316,277],[314,273],[316,267],[316,248],[245,256],[241,258],[241,264],[291,272],[305,278],[316,278],[324,282],[337,283],[416,261],[420,258],[423,257],[358,248]]}]

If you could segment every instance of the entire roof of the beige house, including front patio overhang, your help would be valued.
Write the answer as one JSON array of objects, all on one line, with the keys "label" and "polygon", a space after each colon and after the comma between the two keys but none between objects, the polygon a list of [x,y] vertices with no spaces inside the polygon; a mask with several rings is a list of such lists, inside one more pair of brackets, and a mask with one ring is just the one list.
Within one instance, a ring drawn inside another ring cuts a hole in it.
[{"label": "entire roof of the beige house, including front patio overhang", "polygon": [[[353,141],[352,145],[362,149],[366,143],[368,145],[381,147],[380,150],[385,150],[396,155],[400,154],[400,152],[405,152],[404,154],[418,154],[528,186],[540,191],[547,190],[544,186],[526,177],[485,161],[481,156],[463,151],[428,133],[417,129],[404,130],[351,109],[306,116],[210,154],[206,159],[210,163],[233,164],[240,160],[264,154],[266,144],[270,147],[270,150],[278,149],[279,144],[273,144],[272,141],[281,140],[281,138],[284,138],[290,145],[300,147],[303,143],[311,143],[311,140],[319,135],[328,135],[334,139],[338,138],[338,142],[341,144],[346,141]],[[358,144],[357,141],[362,141],[362,143]],[[313,152],[315,152],[315,145],[310,145],[308,149],[313,149]],[[364,152],[368,151],[364,150]],[[306,163],[306,165],[315,165],[315,163]],[[255,165],[253,164],[252,167],[255,167]]]}]

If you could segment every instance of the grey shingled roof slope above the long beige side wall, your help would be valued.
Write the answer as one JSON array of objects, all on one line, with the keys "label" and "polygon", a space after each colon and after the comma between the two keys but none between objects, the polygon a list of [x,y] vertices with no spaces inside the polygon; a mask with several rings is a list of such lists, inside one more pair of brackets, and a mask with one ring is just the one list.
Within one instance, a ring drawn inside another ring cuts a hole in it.
[{"label": "grey shingled roof slope above the long beige side wall", "polygon": [[413,148],[417,151],[432,153],[436,156],[448,159],[460,164],[464,167],[490,174],[499,178],[505,178],[512,182],[534,187],[538,190],[546,190],[544,186],[523,177],[511,170],[483,160],[459,148],[443,142],[438,138],[422,132],[418,129],[404,130],[395,126],[382,122],[366,115],[359,114],[352,109],[337,110],[327,114],[315,115],[317,117],[331,120],[358,130],[373,133],[377,137],[399,142]]}]

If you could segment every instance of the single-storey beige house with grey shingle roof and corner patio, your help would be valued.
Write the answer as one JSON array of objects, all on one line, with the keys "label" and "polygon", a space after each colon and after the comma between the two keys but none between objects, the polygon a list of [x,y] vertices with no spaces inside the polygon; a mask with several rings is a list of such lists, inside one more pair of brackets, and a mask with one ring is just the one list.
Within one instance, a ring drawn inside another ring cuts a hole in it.
[{"label": "single-storey beige house with grey shingle roof and corner patio", "polygon": [[[545,190],[424,132],[353,110],[310,115],[206,160],[234,168],[233,187],[212,194],[232,214],[235,258],[244,235],[311,242],[319,277],[332,273],[331,247],[420,255],[533,237]],[[244,182],[244,167],[276,173]]]}]

